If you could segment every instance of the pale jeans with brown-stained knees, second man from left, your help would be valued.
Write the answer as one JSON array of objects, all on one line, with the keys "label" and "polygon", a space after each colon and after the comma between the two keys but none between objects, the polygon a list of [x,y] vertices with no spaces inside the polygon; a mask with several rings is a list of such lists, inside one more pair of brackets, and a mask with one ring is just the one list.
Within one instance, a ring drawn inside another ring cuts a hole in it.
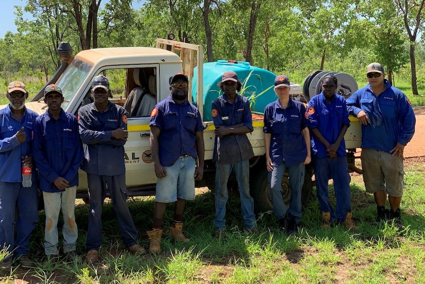
[{"label": "pale jeans with brown-stained knees, second man from left", "polygon": [[64,218],[62,227],[64,252],[75,250],[75,243],[78,238],[74,214],[76,191],[77,187],[73,186],[63,192],[43,192],[44,212],[46,214],[44,229],[44,253],[46,255],[59,254],[58,219],[61,208]]}]

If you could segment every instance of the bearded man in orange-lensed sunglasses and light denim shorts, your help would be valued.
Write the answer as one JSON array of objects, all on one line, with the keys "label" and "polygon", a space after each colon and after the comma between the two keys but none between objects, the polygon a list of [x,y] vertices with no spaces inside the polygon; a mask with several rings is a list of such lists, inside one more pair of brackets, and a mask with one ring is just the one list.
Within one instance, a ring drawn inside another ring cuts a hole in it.
[{"label": "bearded man in orange-lensed sunglasses and light denim shorts", "polygon": [[186,200],[195,199],[195,180],[204,174],[204,126],[198,109],[187,100],[188,83],[181,73],[170,78],[170,95],[150,114],[150,148],[157,177],[153,225],[146,232],[150,253],[161,251],[161,226],[168,203],[174,202],[171,237],[190,241],[182,233],[183,212]]}]

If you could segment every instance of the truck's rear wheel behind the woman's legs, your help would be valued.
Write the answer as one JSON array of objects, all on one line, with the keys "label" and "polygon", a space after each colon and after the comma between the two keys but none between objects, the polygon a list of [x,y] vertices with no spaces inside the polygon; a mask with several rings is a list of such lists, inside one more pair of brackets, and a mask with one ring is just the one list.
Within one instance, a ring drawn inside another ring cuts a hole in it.
[{"label": "truck's rear wheel behind the woman's legs", "polygon": [[[282,199],[286,206],[289,206],[291,191],[289,188],[288,173],[285,172],[282,178]],[[257,213],[273,210],[272,197],[270,195],[270,184],[266,169],[260,170],[251,179],[251,193],[254,198],[254,208]],[[306,208],[312,195],[312,173],[306,170],[304,184],[301,190],[301,203]]]}]

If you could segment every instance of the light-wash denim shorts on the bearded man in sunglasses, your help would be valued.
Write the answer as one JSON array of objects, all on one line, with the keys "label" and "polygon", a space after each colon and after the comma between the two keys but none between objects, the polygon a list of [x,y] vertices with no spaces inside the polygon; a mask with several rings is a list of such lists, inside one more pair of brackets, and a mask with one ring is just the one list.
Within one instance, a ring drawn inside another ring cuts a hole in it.
[{"label": "light-wash denim shorts on the bearded man in sunglasses", "polygon": [[195,159],[178,158],[172,166],[165,166],[167,175],[156,181],[155,201],[171,203],[179,199],[195,199]]}]

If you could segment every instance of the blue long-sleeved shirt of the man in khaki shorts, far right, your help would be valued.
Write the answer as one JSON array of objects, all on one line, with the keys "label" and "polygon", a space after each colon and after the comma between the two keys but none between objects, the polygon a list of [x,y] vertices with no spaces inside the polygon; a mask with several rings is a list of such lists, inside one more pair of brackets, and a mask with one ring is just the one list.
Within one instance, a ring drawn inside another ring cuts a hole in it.
[{"label": "blue long-sleeved shirt of the man in khaki shorts, far right", "polygon": [[390,152],[397,142],[406,146],[415,133],[415,113],[406,95],[384,79],[386,89],[376,96],[370,84],[347,99],[351,115],[363,110],[370,123],[361,125],[361,147]]}]

